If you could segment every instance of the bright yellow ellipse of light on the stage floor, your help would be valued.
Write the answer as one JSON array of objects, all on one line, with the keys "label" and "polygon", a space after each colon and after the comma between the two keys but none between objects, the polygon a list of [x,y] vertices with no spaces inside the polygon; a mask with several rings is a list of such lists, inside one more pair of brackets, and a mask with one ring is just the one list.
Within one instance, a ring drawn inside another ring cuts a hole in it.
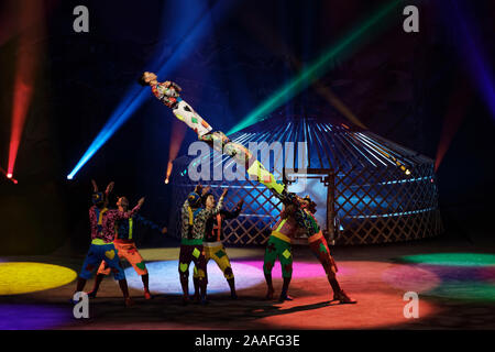
[{"label": "bright yellow ellipse of light on the stage floor", "polygon": [[0,296],[28,294],[67,285],[77,273],[43,263],[0,263]]}]

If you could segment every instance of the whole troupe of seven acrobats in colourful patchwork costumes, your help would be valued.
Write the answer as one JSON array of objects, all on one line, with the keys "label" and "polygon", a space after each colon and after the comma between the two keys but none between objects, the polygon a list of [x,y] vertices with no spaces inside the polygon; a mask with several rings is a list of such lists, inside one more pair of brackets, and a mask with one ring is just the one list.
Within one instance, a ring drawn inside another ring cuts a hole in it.
[{"label": "whole troupe of seven acrobats in colourful patchwork costumes", "polygon": [[[279,220],[272,229],[272,233],[266,244],[263,272],[267,285],[266,299],[273,299],[274,287],[272,280],[272,270],[278,258],[282,266],[283,288],[279,301],[292,300],[288,288],[293,274],[293,249],[292,241],[298,231],[304,231],[308,238],[311,252],[324,268],[329,284],[333,290],[333,300],[341,304],[355,304],[356,301],[348,296],[337,280],[338,267],[327,240],[315,218],[316,204],[307,196],[301,198],[294,193],[289,193],[285,185],[276,180],[275,177],[256,160],[256,157],[243,145],[233,143],[221,131],[212,132],[208,124],[186,101],[180,98],[182,88],[172,81],[158,82],[153,73],[145,72],[140,77],[140,84],[150,86],[153,95],[165,106],[172,109],[173,113],[190,129],[193,129],[200,141],[208,143],[215,150],[233,157],[237,162],[246,165],[246,172],[255,177],[257,182],[265,185],[272,194],[283,204],[283,211]],[[245,164],[244,164],[245,163]],[[82,264],[79,274],[76,292],[82,292],[86,280],[92,276],[98,268],[95,287],[88,293],[89,297],[96,297],[99,285],[110,272],[119,282],[127,306],[133,304],[129,296],[125,275],[120,264],[120,258],[125,258],[141,275],[144,286],[144,296],[152,298],[148,288],[148,273],[145,263],[140,255],[133,240],[133,221],[144,221],[150,227],[160,230],[160,227],[146,221],[138,215],[144,198],[129,210],[129,200],[120,197],[117,201],[118,209],[109,209],[109,194],[113,188],[111,183],[105,194],[98,191],[94,182],[94,206],[89,209],[91,226],[91,245],[88,255]],[[178,273],[183,288],[183,304],[189,302],[189,266],[193,262],[195,286],[194,300],[207,304],[208,273],[207,264],[212,258],[222,271],[231,292],[231,298],[237,299],[234,274],[229,256],[223,246],[223,221],[234,219],[242,210],[241,200],[233,210],[223,209],[223,201],[228,188],[216,201],[209,187],[196,186],[190,193],[182,208],[180,229],[180,253]],[[166,233],[163,228],[162,233]]]}]

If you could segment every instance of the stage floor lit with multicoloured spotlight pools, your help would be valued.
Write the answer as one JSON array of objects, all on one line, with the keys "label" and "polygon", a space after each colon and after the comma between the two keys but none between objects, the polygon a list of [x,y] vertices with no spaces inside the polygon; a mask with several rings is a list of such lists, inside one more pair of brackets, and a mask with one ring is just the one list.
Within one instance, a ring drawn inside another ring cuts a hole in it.
[{"label": "stage floor lit with multicoloured spotlight pools", "polygon": [[[341,285],[359,300],[358,305],[329,302],[331,295],[324,272],[305,246],[295,248],[289,292],[295,299],[284,304],[263,299],[263,249],[228,249],[228,252],[239,287],[240,297],[235,301],[229,299],[227,282],[212,264],[209,266],[209,305],[182,306],[180,296],[175,294],[178,249],[142,250],[154,299],[142,297],[139,278],[129,268],[127,274],[135,306],[124,308],[117,283],[107,278],[99,297],[90,300],[90,318],[79,320],[73,317],[73,306],[68,302],[75,288],[75,273],[50,272],[54,270],[52,266],[48,271],[42,266],[35,266],[34,271],[28,267],[16,272],[14,278],[10,275],[9,279],[1,273],[14,262],[47,263],[78,272],[82,257],[61,254],[1,257],[0,328],[495,329],[493,245],[436,239],[333,249]],[[68,284],[23,294],[13,292],[40,289],[36,285],[42,284],[57,285],[51,283],[53,278]],[[278,293],[282,286],[279,266],[274,270],[274,278]],[[46,283],[41,283],[43,280]],[[91,286],[92,280],[86,289]],[[419,294],[419,318],[405,318],[406,292]]]}]

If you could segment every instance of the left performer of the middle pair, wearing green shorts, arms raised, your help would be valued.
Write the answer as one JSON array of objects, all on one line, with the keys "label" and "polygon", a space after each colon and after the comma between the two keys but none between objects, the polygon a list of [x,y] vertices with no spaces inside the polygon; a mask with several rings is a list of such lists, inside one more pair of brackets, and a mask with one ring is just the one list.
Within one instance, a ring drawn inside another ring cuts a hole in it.
[{"label": "left performer of the middle pair, wearing green shorts, arms raised", "polygon": [[[206,288],[208,284],[208,276],[202,240],[205,238],[206,223],[208,219],[218,215],[222,208],[227,188],[220,196],[216,207],[207,204],[205,209],[201,208],[201,196],[199,196],[200,191],[201,187],[197,186],[195,191],[189,194],[182,209],[182,242],[178,271],[180,276],[180,285],[184,293],[184,304],[187,304],[189,300],[190,262],[195,263],[201,304],[207,302]],[[205,193],[202,194],[205,196]]]}]

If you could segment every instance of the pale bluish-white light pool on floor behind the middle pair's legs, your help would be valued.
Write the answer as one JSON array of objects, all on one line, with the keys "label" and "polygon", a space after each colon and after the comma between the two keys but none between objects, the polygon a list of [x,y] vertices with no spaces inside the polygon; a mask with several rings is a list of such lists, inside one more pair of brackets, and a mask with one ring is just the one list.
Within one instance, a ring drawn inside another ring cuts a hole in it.
[{"label": "pale bluish-white light pool on floor behind the middle pair's legs", "polygon": [[[251,265],[231,262],[235,275],[235,289],[255,286],[265,280],[263,271]],[[189,294],[194,293],[193,267],[189,266]],[[150,290],[155,294],[182,295],[178,274],[178,261],[146,263],[150,273]],[[230,293],[229,284],[215,261],[208,263],[208,294]],[[238,275],[239,274],[239,275]],[[133,267],[125,268],[125,278],[130,287],[143,289],[141,276]]]}]

